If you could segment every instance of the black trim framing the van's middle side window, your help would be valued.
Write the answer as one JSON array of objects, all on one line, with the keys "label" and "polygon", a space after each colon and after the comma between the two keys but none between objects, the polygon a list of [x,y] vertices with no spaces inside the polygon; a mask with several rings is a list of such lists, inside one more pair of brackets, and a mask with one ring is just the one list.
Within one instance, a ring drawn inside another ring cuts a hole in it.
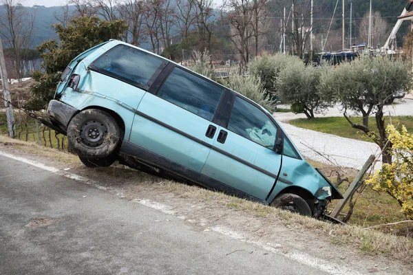
[{"label": "black trim framing the van's middle side window", "polygon": [[[162,89],[162,86],[165,84],[165,82],[166,82],[167,79],[169,78],[169,75],[173,72],[173,69],[175,69],[175,68],[182,69],[182,71],[187,72],[187,73],[189,73],[189,74],[192,74],[193,76],[196,76],[196,77],[198,77],[198,78],[200,78],[200,79],[202,79],[202,80],[205,80],[205,81],[207,81],[208,83],[213,84],[213,85],[215,85],[216,87],[219,87],[220,89],[222,89],[222,96],[221,96],[221,98],[220,98],[220,101],[218,102],[218,106],[217,106],[217,109],[215,110],[215,113],[214,113],[214,115],[213,115],[212,120],[208,120],[207,118],[204,118],[204,117],[198,115],[198,113],[193,113],[193,112],[191,112],[191,111],[189,111],[189,110],[187,110],[187,109],[184,109],[183,107],[181,107],[181,106],[179,106],[179,105],[177,105],[177,104],[175,104],[175,103],[173,103],[173,102],[170,102],[170,101],[166,100],[165,98],[161,98],[160,96],[158,96],[160,89]],[[164,71],[165,71],[165,73],[164,73]],[[155,83],[156,83],[156,85],[155,85]],[[165,101],[167,101],[167,102],[169,102],[169,103],[171,103],[171,104],[174,104],[175,106],[180,107],[181,109],[184,109],[185,111],[189,111],[189,113],[193,113],[194,115],[198,115],[200,118],[203,118],[204,120],[208,120],[209,122],[212,122],[212,123],[215,123],[215,118],[217,117],[218,112],[220,111],[221,104],[222,104],[222,102],[224,101],[224,98],[226,98],[226,93],[228,92],[228,91],[227,91],[228,89],[227,89],[226,87],[224,87],[224,86],[222,86],[222,85],[220,85],[220,84],[218,84],[218,83],[215,83],[215,81],[213,81],[213,80],[211,80],[211,79],[209,79],[209,78],[206,78],[206,77],[204,77],[204,76],[200,76],[200,75],[192,72],[190,69],[187,69],[187,68],[182,67],[182,66],[180,66],[180,65],[176,65],[176,64],[174,64],[174,63],[170,63],[170,66],[165,67],[165,69],[162,71],[161,74],[159,74],[158,78],[156,78],[156,80],[155,80],[155,82],[154,82],[153,84],[154,84],[154,85],[153,85],[153,89],[152,89],[152,87],[151,87],[151,88],[148,90],[151,94],[153,94],[153,95],[157,96],[158,98],[160,98],[160,99],[162,99],[162,100],[165,100]]]}]

